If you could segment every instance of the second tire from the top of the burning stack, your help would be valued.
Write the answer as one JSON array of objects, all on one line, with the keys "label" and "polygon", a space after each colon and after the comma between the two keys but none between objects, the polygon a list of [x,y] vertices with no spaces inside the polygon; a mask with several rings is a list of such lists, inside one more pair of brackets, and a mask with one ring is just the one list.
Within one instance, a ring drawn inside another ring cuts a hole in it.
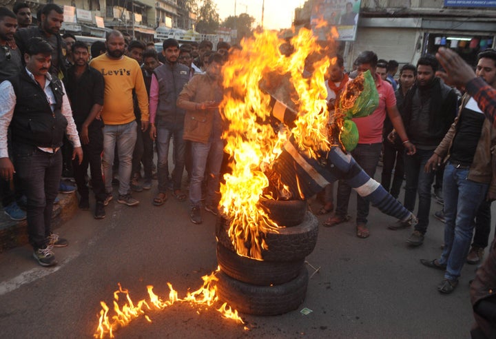
[{"label": "second tire from the top of the burning stack", "polygon": [[[279,233],[268,232],[265,242],[269,247],[262,249],[262,258],[267,261],[293,261],[305,258],[315,248],[318,236],[318,219],[307,212],[302,223],[293,227],[282,227]],[[234,251],[234,246],[227,234],[226,220],[218,220],[218,243]]]}]

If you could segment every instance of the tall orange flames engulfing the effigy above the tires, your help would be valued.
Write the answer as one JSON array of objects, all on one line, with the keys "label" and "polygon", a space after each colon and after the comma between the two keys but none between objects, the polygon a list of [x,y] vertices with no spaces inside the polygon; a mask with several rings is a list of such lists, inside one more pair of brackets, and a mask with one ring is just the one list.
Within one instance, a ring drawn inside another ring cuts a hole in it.
[{"label": "tall orange flames engulfing the effigy above the tires", "polygon": [[[318,151],[330,149],[324,85],[331,64],[327,50],[307,29],[291,39],[294,52],[289,56],[279,50],[285,43],[276,32],[256,33],[254,39],[242,41],[242,50],[236,50],[223,68],[227,93],[220,109],[229,121],[223,138],[227,141],[225,151],[234,161],[232,173],[224,176],[225,184],[220,187],[220,205],[238,254],[259,260],[262,249],[267,249],[264,234],[269,229],[277,232],[278,225],[258,201],[269,185],[265,172],[282,152],[282,145],[292,134],[300,152],[309,157],[316,158]],[[313,67],[309,77],[305,77],[305,65]],[[282,128],[276,133],[270,124],[271,98],[260,87],[277,92],[285,85],[280,79],[288,79],[290,84],[289,99],[281,101],[298,112],[298,119],[291,131]]]}]

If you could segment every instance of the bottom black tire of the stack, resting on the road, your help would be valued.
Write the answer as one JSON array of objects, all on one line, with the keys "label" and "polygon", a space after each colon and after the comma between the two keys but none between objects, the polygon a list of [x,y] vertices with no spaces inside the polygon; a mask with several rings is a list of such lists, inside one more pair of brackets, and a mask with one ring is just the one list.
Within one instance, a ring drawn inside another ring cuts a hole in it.
[{"label": "bottom black tire of the stack, resting on the road", "polygon": [[256,286],[233,279],[223,271],[216,274],[219,300],[243,314],[276,316],[297,309],[307,294],[308,272],[302,267],[296,278],[273,286]]}]

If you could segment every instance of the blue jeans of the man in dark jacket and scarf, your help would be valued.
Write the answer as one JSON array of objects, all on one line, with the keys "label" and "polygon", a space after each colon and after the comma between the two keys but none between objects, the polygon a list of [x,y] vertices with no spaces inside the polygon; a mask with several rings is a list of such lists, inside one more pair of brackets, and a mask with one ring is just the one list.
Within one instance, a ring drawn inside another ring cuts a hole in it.
[{"label": "blue jeans of the man in dark jacket and scarf", "polygon": [[434,154],[434,150],[418,150],[413,155],[404,155],[404,168],[406,174],[404,207],[410,212],[415,209],[415,198],[419,196],[417,218],[418,223],[415,230],[425,234],[427,232],[429,213],[431,212],[431,185],[434,181],[435,172],[426,173],[424,170],[428,159]]}]

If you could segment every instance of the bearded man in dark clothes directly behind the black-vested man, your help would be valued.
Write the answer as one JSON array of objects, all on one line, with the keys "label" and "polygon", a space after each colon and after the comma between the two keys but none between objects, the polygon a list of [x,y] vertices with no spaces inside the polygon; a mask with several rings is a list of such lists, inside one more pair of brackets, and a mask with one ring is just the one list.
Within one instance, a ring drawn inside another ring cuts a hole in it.
[{"label": "bearded man in dark clothes directly behind the black-vested man", "polygon": [[59,32],[63,23],[63,10],[59,5],[48,3],[40,12],[39,26],[21,28],[14,37],[21,53],[29,48],[28,41],[32,37],[40,37],[50,43],[53,49],[50,74],[62,79],[65,74],[65,43]]}]

